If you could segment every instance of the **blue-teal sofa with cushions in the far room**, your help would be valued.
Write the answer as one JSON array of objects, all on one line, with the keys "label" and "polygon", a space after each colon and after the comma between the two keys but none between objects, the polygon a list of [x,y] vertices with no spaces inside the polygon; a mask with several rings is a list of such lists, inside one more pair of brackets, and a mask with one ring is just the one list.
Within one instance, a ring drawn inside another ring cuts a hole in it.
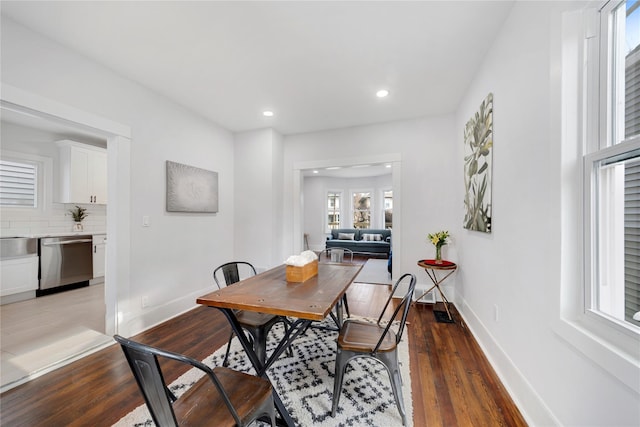
[{"label": "blue-teal sofa with cushions in the far room", "polygon": [[347,248],[354,253],[383,254],[388,257],[391,253],[391,230],[360,228],[331,230],[325,249],[329,248]]}]

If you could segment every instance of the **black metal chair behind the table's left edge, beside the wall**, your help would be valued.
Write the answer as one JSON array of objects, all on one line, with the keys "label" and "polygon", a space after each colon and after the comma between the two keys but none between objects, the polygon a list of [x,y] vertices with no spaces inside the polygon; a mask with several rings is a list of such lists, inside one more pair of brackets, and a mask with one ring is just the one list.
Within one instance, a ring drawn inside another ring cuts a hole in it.
[{"label": "black metal chair behind the table's left edge, beside the wall", "polygon": [[[246,261],[232,261],[222,264],[213,271],[213,280],[219,289],[222,289],[221,284],[226,286],[233,285],[239,282],[241,279],[245,279],[257,274],[253,265]],[[267,336],[269,331],[278,322],[284,324],[285,331],[288,328],[288,320],[286,317],[274,316],[273,314],[257,313],[253,311],[237,310],[235,312],[238,322],[242,326],[242,329],[249,333],[249,338],[253,342],[253,348],[256,352],[256,356],[262,364],[267,359]],[[224,355],[224,361],[222,366],[228,366],[229,364],[229,352],[231,350],[231,341],[233,340],[234,332],[231,331],[229,342],[227,343],[227,351]],[[289,356],[293,353],[291,349],[288,350]]]}]

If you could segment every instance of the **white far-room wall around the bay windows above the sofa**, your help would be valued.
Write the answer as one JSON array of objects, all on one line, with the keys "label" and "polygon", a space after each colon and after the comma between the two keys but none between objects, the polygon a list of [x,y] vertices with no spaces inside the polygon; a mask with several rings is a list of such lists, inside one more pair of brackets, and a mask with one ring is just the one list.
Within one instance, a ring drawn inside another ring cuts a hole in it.
[{"label": "white far-room wall around the bay windows above the sofa", "polygon": [[341,215],[342,228],[352,227],[350,214],[350,194],[358,190],[371,190],[373,193],[371,205],[371,228],[384,228],[384,200],[383,190],[392,187],[392,176],[381,175],[366,178],[332,178],[314,177],[304,178],[304,232],[308,234],[309,248],[320,251],[325,248],[327,231],[327,192],[341,191],[343,200]]}]

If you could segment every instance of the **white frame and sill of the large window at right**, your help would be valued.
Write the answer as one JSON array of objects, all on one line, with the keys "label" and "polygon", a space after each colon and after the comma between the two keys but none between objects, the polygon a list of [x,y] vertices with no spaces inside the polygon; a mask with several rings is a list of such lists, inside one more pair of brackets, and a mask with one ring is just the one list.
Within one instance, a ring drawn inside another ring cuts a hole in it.
[{"label": "white frame and sill of the large window at right", "polygon": [[638,334],[595,313],[590,309],[589,300],[594,270],[591,172],[594,162],[608,157],[612,150],[630,148],[612,147],[599,152],[605,148],[601,143],[604,141],[606,145],[610,136],[607,129],[610,129],[608,119],[611,117],[600,114],[610,108],[607,85],[600,85],[601,79],[608,79],[609,75],[607,58],[600,60],[601,48],[608,43],[608,23],[600,17],[614,4],[617,2],[603,1],[599,10],[585,9],[580,14],[565,15],[563,21],[562,84],[558,92],[562,96],[558,100],[562,114],[559,129],[562,129],[562,138],[567,145],[561,149],[563,262],[560,317],[553,323],[553,330],[604,371],[640,393],[640,383],[636,380],[640,369]]}]

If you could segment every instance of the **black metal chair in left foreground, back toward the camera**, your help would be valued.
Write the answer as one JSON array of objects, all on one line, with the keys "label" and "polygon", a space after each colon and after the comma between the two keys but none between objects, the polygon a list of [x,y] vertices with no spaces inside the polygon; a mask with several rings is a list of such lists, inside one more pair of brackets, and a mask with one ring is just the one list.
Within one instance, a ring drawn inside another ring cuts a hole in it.
[{"label": "black metal chair in left foreground, back toward the camera", "polygon": [[[209,368],[187,356],[161,350],[120,335],[113,337],[122,347],[129,367],[157,426],[179,425],[246,426],[268,417],[275,426],[273,390],[267,379],[229,368]],[[158,356],[186,363],[205,375],[182,396],[165,383]]]}]

